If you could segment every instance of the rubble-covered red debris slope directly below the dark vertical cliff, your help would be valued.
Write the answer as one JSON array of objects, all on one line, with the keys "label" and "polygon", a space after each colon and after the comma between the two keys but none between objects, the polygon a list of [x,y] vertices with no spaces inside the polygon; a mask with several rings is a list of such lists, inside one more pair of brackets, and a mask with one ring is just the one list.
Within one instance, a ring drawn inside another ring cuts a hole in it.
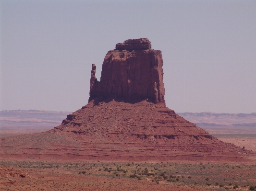
[{"label": "rubble-covered red debris slope directly below the dark vertical cliff", "polygon": [[90,101],[49,132],[83,135],[88,142],[219,143],[163,103]]}]

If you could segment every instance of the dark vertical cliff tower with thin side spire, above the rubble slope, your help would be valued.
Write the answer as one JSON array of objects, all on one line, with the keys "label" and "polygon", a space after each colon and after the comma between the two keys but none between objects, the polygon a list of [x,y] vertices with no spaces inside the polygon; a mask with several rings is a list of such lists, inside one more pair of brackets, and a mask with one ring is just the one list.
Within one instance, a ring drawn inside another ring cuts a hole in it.
[{"label": "dark vertical cliff tower with thin side spire, above the rubble slope", "polygon": [[149,99],[165,102],[161,51],[151,49],[147,38],[129,39],[116,45],[104,58],[100,81],[92,66],[90,98]]}]

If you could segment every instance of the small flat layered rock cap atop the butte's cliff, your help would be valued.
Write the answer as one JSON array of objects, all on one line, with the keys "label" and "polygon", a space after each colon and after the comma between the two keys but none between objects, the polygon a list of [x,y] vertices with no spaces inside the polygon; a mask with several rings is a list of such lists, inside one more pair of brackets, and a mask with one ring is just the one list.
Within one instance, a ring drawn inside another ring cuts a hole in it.
[{"label": "small flat layered rock cap atop the butte's cliff", "polygon": [[151,49],[151,42],[147,38],[128,39],[124,43],[116,44],[116,50],[146,50]]}]

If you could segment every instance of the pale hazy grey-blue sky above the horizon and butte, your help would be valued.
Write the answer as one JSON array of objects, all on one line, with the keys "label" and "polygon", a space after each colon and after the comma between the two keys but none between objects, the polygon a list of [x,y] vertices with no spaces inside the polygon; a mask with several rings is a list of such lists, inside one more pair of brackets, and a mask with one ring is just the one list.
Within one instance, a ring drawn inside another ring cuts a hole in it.
[{"label": "pale hazy grey-blue sky above the horizon and butte", "polygon": [[256,0],[0,0],[0,110],[80,109],[92,63],[143,37],[175,112],[256,112]]}]

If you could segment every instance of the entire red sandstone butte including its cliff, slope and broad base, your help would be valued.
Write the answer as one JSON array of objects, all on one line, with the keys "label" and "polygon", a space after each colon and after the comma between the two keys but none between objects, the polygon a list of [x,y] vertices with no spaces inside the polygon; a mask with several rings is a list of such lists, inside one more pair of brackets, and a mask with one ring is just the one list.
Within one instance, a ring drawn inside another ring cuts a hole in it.
[{"label": "entire red sandstone butte including its cliff, slope and broad base", "polygon": [[161,51],[147,38],[116,45],[90,97],[54,129],[4,137],[0,157],[100,161],[255,161],[256,153],[218,140],[165,105]]}]

